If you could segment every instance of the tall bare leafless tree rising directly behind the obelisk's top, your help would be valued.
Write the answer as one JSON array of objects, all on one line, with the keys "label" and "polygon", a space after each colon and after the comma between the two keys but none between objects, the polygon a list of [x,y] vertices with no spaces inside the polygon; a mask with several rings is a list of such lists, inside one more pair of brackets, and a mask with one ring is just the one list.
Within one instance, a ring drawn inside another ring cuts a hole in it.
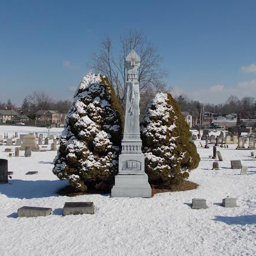
[{"label": "tall bare leafless tree rising directly behind the obelisk's top", "polygon": [[146,105],[149,98],[165,88],[163,77],[166,75],[166,71],[161,66],[162,57],[146,36],[136,30],[130,30],[128,35],[121,35],[119,47],[119,54],[115,54],[118,51],[114,51],[111,38],[105,37],[101,42],[100,52],[93,54],[89,66],[96,73],[108,77],[115,88],[118,99],[124,103],[127,80],[125,57],[134,49],[141,57],[139,88],[141,105]]}]

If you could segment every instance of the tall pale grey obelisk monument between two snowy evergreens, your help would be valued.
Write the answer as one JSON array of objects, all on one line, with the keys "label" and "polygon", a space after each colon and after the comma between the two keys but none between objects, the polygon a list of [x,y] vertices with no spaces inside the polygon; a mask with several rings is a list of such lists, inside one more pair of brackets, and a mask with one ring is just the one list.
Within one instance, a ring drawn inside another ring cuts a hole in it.
[{"label": "tall pale grey obelisk monument between two snowy evergreens", "polygon": [[132,50],[125,59],[127,91],[122,152],[119,155],[118,175],[112,187],[112,197],[151,197],[151,186],[145,173],[145,156],[141,151],[139,131],[139,65],[141,58]]}]

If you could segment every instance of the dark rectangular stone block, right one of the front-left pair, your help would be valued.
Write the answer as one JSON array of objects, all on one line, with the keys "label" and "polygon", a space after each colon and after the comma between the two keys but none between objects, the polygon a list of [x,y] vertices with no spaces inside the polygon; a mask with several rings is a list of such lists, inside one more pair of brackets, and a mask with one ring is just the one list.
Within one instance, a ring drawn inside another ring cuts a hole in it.
[{"label": "dark rectangular stone block, right one of the front-left pair", "polygon": [[63,207],[63,216],[77,214],[94,214],[93,202],[70,202],[65,203]]}]

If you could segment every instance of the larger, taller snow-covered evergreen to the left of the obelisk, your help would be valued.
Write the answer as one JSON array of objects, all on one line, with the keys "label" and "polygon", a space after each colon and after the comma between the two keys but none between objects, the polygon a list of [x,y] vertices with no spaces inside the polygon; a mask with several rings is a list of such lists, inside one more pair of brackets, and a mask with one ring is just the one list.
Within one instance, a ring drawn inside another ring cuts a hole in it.
[{"label": "larger, taller snow-covered evergreen to the left of the obelisk", "polygon": [[89,72],[74,94],[53,173],[77,191],[110,188],[118,172],[123,118],[108,79]]}]

